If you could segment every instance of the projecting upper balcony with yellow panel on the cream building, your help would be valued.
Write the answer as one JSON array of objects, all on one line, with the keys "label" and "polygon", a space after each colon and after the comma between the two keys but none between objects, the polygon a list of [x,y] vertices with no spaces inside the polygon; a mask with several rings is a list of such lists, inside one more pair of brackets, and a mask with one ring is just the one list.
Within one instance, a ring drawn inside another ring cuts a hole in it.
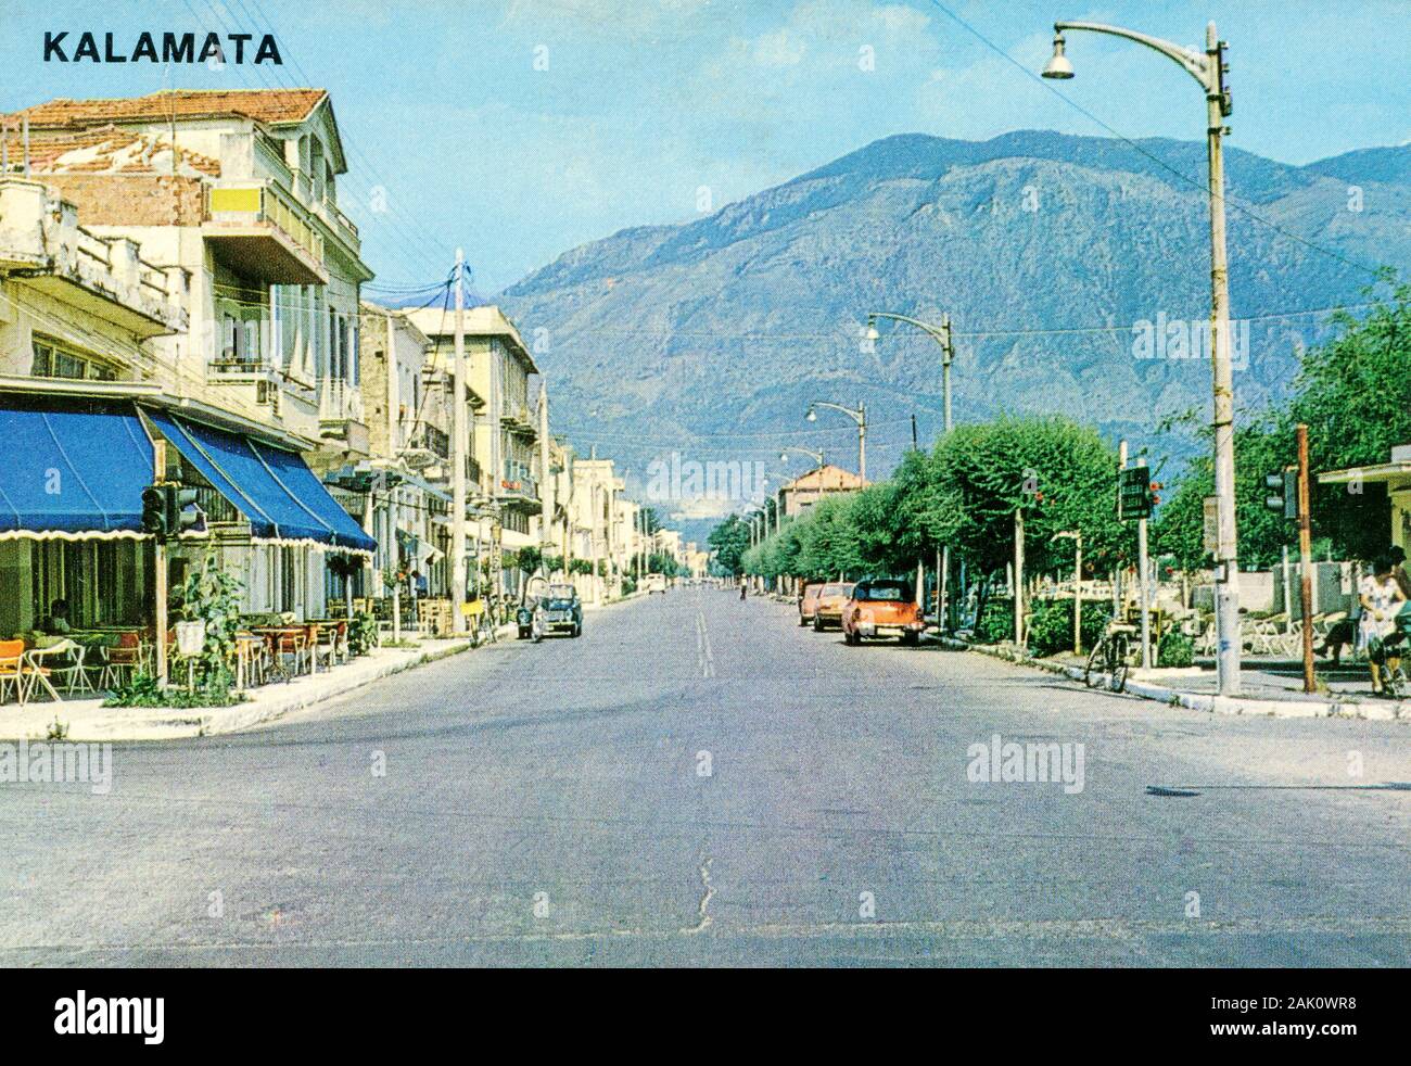
[{"label": "projecting upper balcony with yellow panel on the cream building", "polygon": [[222,182],[206,206],[202,236],[237,273],[272,285],[327,284],[323,234],[272,182]]}]

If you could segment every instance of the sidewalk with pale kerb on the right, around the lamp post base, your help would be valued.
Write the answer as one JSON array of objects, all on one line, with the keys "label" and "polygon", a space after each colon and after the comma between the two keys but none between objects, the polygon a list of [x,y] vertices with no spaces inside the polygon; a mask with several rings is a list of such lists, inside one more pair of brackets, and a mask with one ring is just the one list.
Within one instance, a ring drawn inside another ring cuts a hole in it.
[{"label": "sidewalk with pale kerb on the right, around the lamp post base", "polygon": [[[1082,682],[1084,662],[1071,652],[1036,659],[1006,644],[968,644],[951,637],[937,638],[955,649],[1036,666]],[[1133,669],[1127,675],[1126,693],[1160,700],[1170,706],[1205,710],[1215,714],[1264,714],[1281,719],[1356,717],[1379,721],[1411,721],[1411,700],[1386,700],[1371,695],[1371,681],[1366,666],[1343,666],[1325,676],[1326,692],[1305,693],[1302,662],[1287,659],[1242,661],[1240,685],[1243,696],[1219,696],[1212,668],[1201,665],[1181,668]],[[1106,689],[1099,689],[1106,692]]]}]

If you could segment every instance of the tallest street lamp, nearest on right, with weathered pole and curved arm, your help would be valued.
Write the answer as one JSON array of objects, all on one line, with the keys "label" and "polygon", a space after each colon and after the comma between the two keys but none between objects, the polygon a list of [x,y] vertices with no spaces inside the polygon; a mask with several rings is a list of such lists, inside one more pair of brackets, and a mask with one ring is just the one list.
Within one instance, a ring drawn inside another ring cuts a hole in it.
[{"label": "tallest street lamp, nearest on right, with weathered pole and curved arm", "polygon": [[1205,27],[1205,54],[1191,48],[1120,30],[1102,23],[1054,23],[1054,54],[1044,68],[1044,78],[1072,78],[1072,64],[1064,54],[1064,31],[1086,30],[1123,37],[1146,45],[1180,64],[1205,90],[1205,150],[1209,164],[1206,195],[1211,208],[1211,369],[1215,429],[1215,497],[1218,548],[1215,551],[1215,627],[1218,634],[1218,673],[1222,696],[1237,696],[1239,678],[1239,562],[1235,529],[1235,369],[1230,361],[1229,270],[1225,254],[1225,161],[1221,138],[1229,133],[1225,119],[1233,110],[1225,88],[1225,42],[1215,34],[1215,23]]}]

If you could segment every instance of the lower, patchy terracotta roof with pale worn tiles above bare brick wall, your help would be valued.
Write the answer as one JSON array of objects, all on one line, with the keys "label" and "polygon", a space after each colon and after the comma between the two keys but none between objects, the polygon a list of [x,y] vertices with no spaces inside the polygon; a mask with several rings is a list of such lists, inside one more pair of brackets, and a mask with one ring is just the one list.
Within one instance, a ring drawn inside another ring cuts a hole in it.
[{"label": "lower, patchy terracotta roof with pale worn tiles above bare brick wall", "polygon": [[[24,164],[20,131],[6,131],[10,174]],[[174,165],[175,164],[175,165]],[[172,145],[165,133],[140,134],[117,126],[97,126],[73,133],[30,130],[30,168],[34,174],[176,174],[220,176],[220,161]]]}]

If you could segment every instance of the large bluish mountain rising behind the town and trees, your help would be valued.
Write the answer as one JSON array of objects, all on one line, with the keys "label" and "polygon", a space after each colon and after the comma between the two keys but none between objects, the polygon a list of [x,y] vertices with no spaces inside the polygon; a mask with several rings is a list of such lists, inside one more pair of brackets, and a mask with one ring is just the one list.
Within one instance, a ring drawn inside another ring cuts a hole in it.
[{"label": "large bluish mountain rising behind the town and trees", "polygon": [[[1250,409],[1284,394],[1328,308],[1411,264],[1411,148],[1295,167],[1228,145],[1226,181]],[[855,428],[806,422],[814,400],[866,405],[868,473],[885,476],[913,414],[923,446],[940,431],[940,350],[886,322],[868,343],[869,311],[951,315],[957,422],[1061,412],[1180,455],[1189,439],[1154,432],[1209,408],[1205,182],[1204,144],[902,134],[691,222],[573,248],[498,302],[550,378],[555,432],[617,457],[629,490],[673,450],[761,462],[772,484],[790,443],[855,469]]]}]

